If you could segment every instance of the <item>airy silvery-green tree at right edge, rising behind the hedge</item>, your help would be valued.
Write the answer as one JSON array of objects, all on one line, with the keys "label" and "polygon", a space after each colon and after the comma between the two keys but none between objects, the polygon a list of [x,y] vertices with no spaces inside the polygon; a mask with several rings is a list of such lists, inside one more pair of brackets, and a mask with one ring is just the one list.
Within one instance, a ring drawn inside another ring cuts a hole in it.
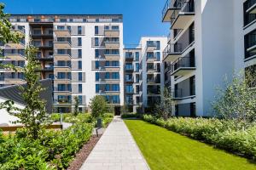
[{"label": "airy silvery-green tree at right edge, rising behind the hedge", "polygon": [[234,120],[246,126],[256,120],[256,90],[252,88],[255,74],[234,74],[231,81],[224,78],[224,88],[217,88],[212,102],[215,114],[227,120]]}]

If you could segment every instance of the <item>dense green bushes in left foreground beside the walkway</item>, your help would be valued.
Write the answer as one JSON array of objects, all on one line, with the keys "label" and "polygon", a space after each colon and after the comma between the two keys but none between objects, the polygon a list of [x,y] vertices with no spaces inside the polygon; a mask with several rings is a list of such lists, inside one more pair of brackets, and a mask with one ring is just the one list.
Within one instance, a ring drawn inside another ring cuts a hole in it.
[{"label": "dense green bushes in left foreground beside the walkway", "polygon": [[79,122],[63,131],[42,131],[39,139],[26,138],[26,129],[0,144],[0,169],[63,169],[90,139],[93,124]]}]

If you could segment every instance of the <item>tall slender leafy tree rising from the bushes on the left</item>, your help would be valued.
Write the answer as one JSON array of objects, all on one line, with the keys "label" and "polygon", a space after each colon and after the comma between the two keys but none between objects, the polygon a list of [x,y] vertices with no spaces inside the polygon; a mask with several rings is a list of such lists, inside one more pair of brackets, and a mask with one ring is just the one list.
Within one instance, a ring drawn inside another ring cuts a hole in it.
[{"label": "tall slender leafy tree rising from the bushes on the left", "polygon": [[41,129],[48,125],[48,114],[45,110],[45,101],[40,98],[40,94],[44,91],[39,82],[40,68],[36,54],[38,49],[31,44],[27,44],[26,66],[22,69],[25,75],[25,86],[20,86],[22,98],[26,106],[23,109],[14,106],[13,101],[6,101],[1,106],[6,108],[10,115],[17,116],[19,121],[27,128],[28,136],[32,139],[38,139],[38,133]]}]

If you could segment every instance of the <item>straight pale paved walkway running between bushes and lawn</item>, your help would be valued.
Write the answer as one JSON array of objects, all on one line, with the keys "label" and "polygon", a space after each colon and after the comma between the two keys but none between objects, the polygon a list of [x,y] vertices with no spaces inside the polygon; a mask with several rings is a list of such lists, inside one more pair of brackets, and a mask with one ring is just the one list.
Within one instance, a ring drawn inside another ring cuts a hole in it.
[{"label": "straight pale paved walkway running between bushes and lawn", "polygon": [[148,170],[128,128],[115,116],[80,170]]}]

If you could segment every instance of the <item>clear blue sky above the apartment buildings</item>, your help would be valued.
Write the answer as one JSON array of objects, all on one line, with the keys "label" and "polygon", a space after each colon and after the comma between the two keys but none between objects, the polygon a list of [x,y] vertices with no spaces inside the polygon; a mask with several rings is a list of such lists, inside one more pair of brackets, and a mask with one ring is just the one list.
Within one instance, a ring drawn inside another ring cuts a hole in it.
[{"label": "clear blue sky above the apartment buildings", "polygon": [[9,14],[124,14],[124,42],[136,44],[142,36],[164,36],[161,22],[166,0],[3,0]]}]

